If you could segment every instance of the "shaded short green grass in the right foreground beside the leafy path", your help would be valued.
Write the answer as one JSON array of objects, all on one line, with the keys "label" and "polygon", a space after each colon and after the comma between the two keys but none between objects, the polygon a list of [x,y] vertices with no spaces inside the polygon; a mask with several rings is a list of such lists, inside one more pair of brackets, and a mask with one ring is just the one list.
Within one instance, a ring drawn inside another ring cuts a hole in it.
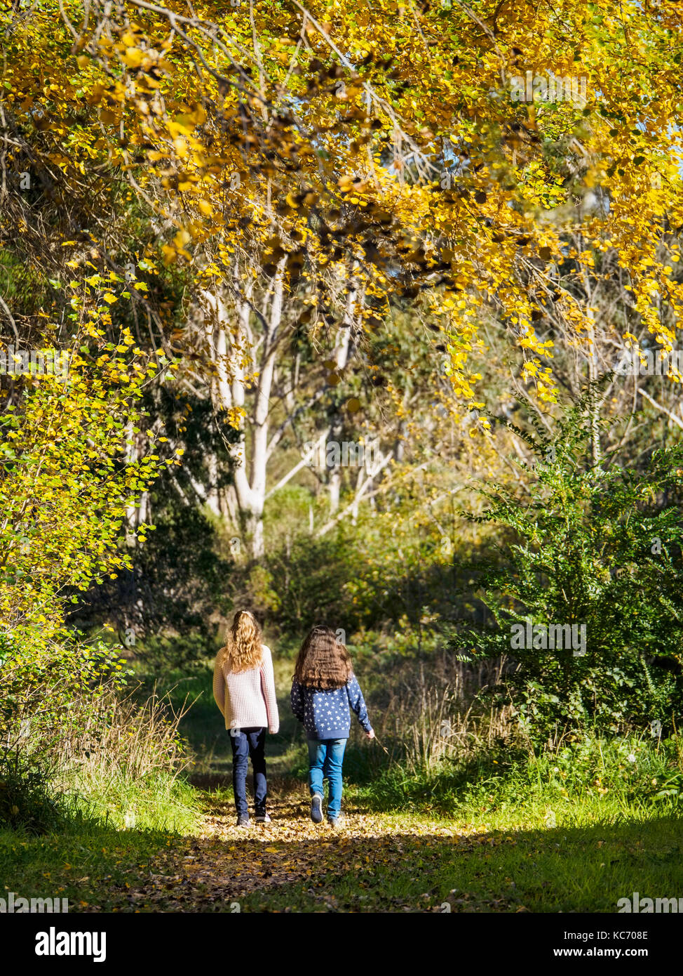
[{"label": "shaded short green grass in the right foreground beside the leafy path", "polygon": [[[447,826],[462,825],[439,824]],[[304,882],[249,894],[242,911],[612,913],[634,891],[683,896],[682,824],[674,818],[458,839],[431,834],[421,817],[388,818],[387,827],[388,842],[342,846],[337,870],[327,864]]]}]

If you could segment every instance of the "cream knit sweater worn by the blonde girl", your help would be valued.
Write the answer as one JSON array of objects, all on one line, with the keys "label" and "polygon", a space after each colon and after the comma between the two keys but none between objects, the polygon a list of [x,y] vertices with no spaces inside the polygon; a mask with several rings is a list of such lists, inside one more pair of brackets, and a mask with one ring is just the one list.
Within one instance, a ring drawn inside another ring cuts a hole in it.
[{"label": "cream knit sweater worn by the blonde girl", "polygon": [[268,731],[275,734],[280,728],[280,716],[270,648],[263,645],[259,667],[238,673],[220,668],[216,658],[213,697],[225,719],[226,729],[268,726]]}]

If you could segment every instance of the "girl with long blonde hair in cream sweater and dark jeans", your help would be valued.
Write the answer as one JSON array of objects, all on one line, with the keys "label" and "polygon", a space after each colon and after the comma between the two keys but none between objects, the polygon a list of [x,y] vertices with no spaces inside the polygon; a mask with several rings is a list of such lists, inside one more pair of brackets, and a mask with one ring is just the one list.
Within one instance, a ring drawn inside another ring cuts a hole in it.
[{"label": "girl with long blonde hair in cream sweater and dark jeans", "polygon": [[247,827],[247,769],[251,758],[256,823],[269,824],[266,813],[266,728],[280,728],[273,658],[261,629],[248,610],[238,610],[213,668],[213,697],[230,731],[233,791],[238,827]]}]

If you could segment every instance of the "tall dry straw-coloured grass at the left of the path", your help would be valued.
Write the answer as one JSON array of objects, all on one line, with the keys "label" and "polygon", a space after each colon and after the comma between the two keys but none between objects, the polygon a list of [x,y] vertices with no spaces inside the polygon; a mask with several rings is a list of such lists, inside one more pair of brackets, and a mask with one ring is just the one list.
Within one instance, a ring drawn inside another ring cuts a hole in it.
[{"label": "tall dry straw-coloured grass at the left of the path", "polygon": [[36,821],[40,829],[31,799],[38,781],[58,806],[116,827],[190,826],[196,797],[178,779],[190,761],[179,732],[186,703],[173,708],[156,688],[144,697],[141,685],[124,691],[106,674],[90,682],[63,671],[51,680],[44,670],[40,682],[20,676],[0,673],[0,695],[14,692],[0,723],[0,773],[12,771],[17,799],[5,804],[8,826]]}]

